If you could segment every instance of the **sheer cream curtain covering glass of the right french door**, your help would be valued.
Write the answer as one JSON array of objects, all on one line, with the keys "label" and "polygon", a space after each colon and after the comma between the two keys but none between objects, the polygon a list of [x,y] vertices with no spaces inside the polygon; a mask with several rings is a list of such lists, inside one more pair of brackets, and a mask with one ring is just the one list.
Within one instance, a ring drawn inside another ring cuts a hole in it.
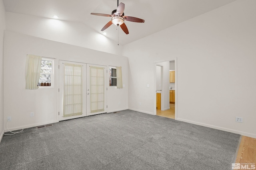
[{"label": "sheer cream curtain covering glass of the right french door", "polygon": [[104,111],[104,68],[90,66],[91,113]]}]

